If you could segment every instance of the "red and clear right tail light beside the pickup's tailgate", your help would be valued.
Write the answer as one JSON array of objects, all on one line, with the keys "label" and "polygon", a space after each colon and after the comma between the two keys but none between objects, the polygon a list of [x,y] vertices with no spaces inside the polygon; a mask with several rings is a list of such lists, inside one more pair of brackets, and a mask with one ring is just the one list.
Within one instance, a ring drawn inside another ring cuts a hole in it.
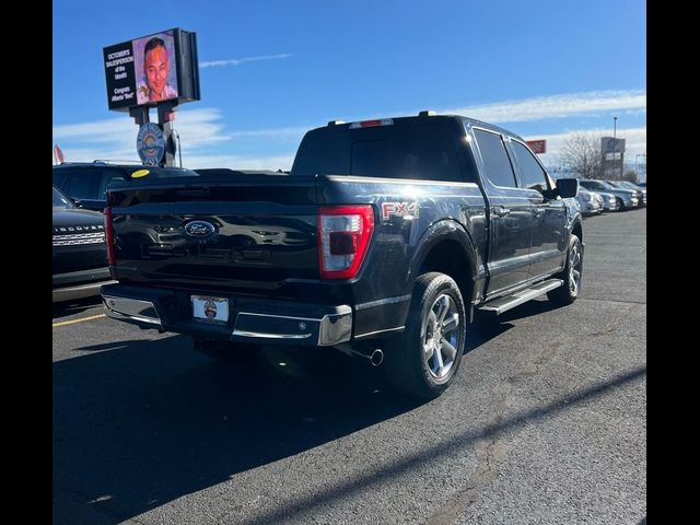
[{"label": "red and clear right tail light beside the pickup's tailgate", "polygon": [[332,206],[318,210],[318,266],[322,279],[358,275],[374,232],[370,205]]}]

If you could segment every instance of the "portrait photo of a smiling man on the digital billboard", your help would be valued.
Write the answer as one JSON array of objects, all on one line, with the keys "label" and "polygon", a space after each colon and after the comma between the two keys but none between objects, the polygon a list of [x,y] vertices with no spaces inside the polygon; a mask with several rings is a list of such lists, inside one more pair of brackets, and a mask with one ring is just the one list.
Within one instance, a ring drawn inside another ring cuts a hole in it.
[{"label": "portrait photo of a smiling man on the digital billboard", "polygon": [[137,104],[177,98],[173,34],[167,31],[133,40]]}]

